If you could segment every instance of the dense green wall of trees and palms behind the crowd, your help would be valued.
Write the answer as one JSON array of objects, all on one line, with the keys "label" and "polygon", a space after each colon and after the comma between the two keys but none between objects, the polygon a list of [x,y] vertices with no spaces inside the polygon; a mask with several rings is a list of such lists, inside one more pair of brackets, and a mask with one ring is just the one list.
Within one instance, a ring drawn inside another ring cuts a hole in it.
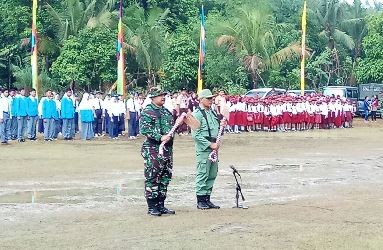
[{"label": "dense green wall of trees and palms behind the crowd", "polygon": [[[207,87],[239,94],[253,83],[299,88],[302,0],[126,0],[123,29],[130,89],[146,89],[159,81],[169,90],[195,88],[202,2]],[[368,9],[361,2],[308,0],[310,88],[349,84],[354,75],[360,82],[382,81],[381,6]],[[43,88],[60,90],[72,81],[83,89],[113,84],[118,8],[118,0],[39,1]],[[1,1],[2,85],[29,84],[30,30],[31,1]]]}]

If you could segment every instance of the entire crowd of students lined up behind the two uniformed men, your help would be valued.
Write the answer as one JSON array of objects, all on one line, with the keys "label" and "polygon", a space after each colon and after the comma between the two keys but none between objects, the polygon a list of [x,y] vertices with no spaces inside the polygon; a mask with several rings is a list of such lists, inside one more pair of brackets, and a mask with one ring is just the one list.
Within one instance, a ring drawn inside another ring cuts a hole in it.
[{"label": "entire crowd of students lined up behind the two uniformed men", "polygon": [[[102,92],[84,93],[80,101],[71,89],[62,96],[48,90],[39,100],[34,89],[28,94],[25,89],[0,91],[3,144],[9,140],[36,140],[37,132],[45,141],[73,140],[76,133],[83,140],[105,135],[116,140],[126,131],[129,139],[135,139],[140,134],[140,114],[151,101],[150,96],[139,93],[127,99]],[[374,103],[369,102],[368,107],[375,107]],[[196,93],[182,89],[167,94],[164,107],[175,120],[183,112],[196,110],[199,100]],[[226,116],[227,133],[350,128],[356,111],[355,104],[339,96],[286,94],[258,98],[229,96],[224,91],[214,97],[212,109],[218,117]],[[179,135],[190,132],[186,124],[177,130]]]}]

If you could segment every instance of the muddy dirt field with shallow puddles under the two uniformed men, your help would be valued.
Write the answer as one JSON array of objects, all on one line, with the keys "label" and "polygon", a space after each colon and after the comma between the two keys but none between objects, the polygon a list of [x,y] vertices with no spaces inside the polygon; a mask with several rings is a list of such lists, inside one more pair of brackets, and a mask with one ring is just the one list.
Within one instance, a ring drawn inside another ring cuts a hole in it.
[{"label": "muddy dirt field with shallow puddles under the two uniformed men", "polygon": [[[0,147],[0,249],[383,249],[383,121],[225,135],[213,201],[195,208],[194,147],[175,142],[168,207],[146,215],[142,139]],[[233,209],[241,173],[247,210]]]}]

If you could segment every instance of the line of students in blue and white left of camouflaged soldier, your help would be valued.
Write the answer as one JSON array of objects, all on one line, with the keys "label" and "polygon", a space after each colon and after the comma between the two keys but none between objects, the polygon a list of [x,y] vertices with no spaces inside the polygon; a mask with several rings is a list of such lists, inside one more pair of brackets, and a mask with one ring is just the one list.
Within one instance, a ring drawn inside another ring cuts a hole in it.
[{"label": "line of students in blue and white left of camouflaged soldier", "polygon": [[0,89],[0,139],[3,144],[16,139],[25,142],[27,131],[27,138],[36,140],[38,131],[43,133],[45,141],[56,140],[59,133],[64,140],[73,140],[79,130],[84,140],[105,134],[118,139],[125,131],[125,120],[128,120],[129,138],[134,139],[139,134],[142,102],[137,94],[126,102],[117,95],[107,95],[103,100],[100,92],[95,96],[84,93],[79,102],[70,89],[61,100],[48,90],[39,101],[34,89],[29,96],[24,89]]}]

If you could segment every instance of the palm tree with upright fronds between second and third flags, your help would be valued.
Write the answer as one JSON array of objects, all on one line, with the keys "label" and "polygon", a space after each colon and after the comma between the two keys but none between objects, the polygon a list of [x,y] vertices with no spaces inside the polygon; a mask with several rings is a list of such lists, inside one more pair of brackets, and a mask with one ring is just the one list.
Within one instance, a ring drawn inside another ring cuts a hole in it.
[{"label": "palm tree with upright fronds between second and third flags", "polygon": [[127,47],[136,57],[148,79],[148,87],[156,85],[156,77],[162,66],[165,39],[165,21],[169,10],[131,6],[124,16]]}]

